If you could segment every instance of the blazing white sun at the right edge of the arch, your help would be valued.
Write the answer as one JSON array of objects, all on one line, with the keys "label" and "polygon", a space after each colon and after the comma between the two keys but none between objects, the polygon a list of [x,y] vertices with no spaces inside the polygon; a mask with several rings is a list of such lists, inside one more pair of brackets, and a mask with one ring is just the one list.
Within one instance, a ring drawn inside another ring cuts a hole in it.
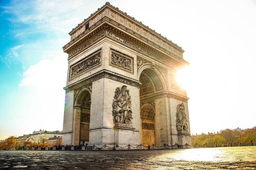
[{"label": "blazing white sun at the right edge of the arch", "polygon": [[188,79],[189,79],[189,70],[188,66],[181,67],[176,74],[174,75],[174,79],[176,83],[182,88],[187,89],[188,87]]}]

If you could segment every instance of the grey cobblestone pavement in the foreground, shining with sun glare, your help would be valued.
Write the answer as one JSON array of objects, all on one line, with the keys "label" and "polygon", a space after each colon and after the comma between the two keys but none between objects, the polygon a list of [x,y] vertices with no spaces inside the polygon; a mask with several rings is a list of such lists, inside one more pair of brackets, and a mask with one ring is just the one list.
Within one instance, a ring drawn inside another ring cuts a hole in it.
[{"label": "grey cobblestone pavement in the foreground, shining with sun glare", "polygon": [[256,169],[256,147],[0,151],[0,169]]}]

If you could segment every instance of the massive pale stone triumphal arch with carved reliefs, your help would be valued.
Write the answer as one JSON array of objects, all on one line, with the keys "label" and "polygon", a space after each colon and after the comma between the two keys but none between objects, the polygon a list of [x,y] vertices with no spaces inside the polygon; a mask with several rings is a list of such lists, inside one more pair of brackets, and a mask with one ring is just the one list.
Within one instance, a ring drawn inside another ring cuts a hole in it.
[{"label": "massive pale stone triumphal arch with carved reliefs", "polygon": [[62,144],[191,144],[181,47],[109,3],[69,35]]}]

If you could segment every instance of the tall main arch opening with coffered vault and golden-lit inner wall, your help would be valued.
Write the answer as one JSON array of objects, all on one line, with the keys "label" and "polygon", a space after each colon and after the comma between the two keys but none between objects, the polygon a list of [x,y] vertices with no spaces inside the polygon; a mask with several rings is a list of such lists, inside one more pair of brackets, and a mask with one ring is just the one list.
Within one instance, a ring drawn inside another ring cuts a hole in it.
[{"label": "tall main arch opening with coffered vault and golden-lit inner wall", "polygon": [[144,68],[140,71],[140,127],[141,144],[156,144],[156,111],[154,97],[166,90],[163,78],[158,70]]}]

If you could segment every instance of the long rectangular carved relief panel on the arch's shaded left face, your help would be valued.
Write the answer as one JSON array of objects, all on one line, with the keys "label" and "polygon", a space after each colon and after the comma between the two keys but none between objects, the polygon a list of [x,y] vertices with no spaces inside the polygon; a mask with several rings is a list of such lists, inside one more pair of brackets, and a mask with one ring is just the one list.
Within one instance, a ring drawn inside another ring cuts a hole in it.
[{"label": "long rectangular carved relief panel on the arch's shaded left face", "polygon": [[96,53],[93,53],[92,55],[89,55],[82,59],[82,61],[78,62],[77,64],[74,64],[70,67],[69,72],[69,78],[73,78],[74,76],[86,71],[92,69],[96,65],[101,64],[101,51],[98,51]]}]

